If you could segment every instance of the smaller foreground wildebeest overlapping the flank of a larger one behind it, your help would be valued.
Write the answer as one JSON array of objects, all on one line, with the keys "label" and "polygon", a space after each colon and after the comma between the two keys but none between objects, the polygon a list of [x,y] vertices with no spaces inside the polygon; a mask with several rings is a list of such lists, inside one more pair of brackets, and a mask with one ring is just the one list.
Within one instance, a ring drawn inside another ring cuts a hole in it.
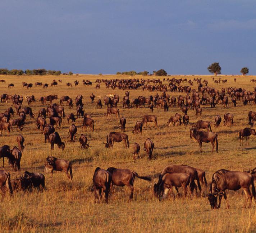
[{"label": "smaller foreground wildebeest overlapping the flank of a larger one behind it", "polygon": [[[186,173],[165,173],[161,177],[160,184],[154,184],[154,194],[161,199],[165,199],[170,191],[173,194],[173,187],[183,187],[184,197],[187,196],[188,186],[190,184],[190,176]],[[190,194],[192,195],[191,187],[189,186]]]}]

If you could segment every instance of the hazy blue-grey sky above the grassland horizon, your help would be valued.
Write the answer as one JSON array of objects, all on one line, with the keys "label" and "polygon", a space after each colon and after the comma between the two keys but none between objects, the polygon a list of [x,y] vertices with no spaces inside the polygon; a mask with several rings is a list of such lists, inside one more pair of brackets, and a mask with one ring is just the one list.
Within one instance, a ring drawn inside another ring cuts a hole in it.
[{"label": "hazy blue-grey sky above the grassland horizon", "polygon": [[0,68],[256,75],[256,0],[0,0]]}]

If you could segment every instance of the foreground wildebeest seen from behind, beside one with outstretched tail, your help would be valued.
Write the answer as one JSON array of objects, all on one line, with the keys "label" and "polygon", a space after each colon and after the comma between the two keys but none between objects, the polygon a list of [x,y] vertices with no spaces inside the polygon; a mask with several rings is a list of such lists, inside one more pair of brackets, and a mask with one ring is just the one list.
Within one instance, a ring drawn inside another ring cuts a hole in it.
[{"label": "foreground wildebeest seen from behind, beside one with outstretched tail", "polygon": [[98,200],[98,203],[100,203],[102,198],[101,191],[103,191],[105,192],[105,202],[108,204],[110,185],[112,181],[111,173],[97,167],[93,174],[92,181],[95,192],[95,203],[96,199]]}]

